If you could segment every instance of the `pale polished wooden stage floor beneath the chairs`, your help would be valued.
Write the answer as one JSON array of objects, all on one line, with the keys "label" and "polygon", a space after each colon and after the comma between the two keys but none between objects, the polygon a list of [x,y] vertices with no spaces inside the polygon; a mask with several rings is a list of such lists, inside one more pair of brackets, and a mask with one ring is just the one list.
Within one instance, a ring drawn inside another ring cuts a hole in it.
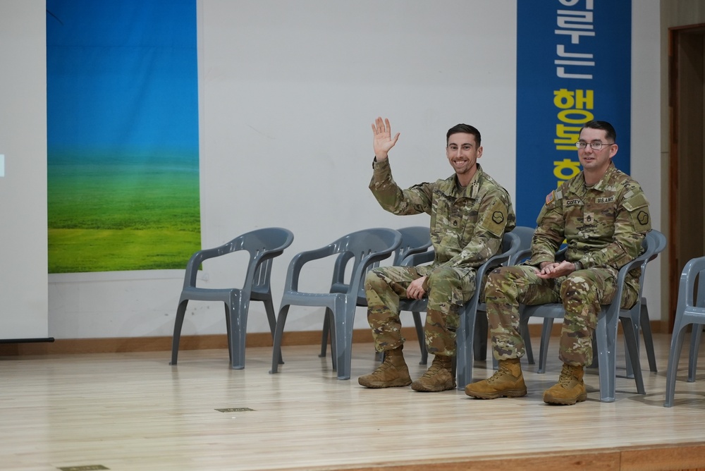
[{"label": "pale polished wooden stage floor beneath the chairs", "polygon": [[[621,377],[615,402],[601,403],[589,369],[588,400],[575,406],[541,401],[560,370],[558,341],[546,374],[523,365],[528,396],[497,400],[364,389],[357,377],[376,365],[367,343],[353,347],[351,381],[314,345],[285,346],[279,374],[269,374],[269,348],[249,348],[243,370],[228,367],[226,350],[185,350],[173,367],[168,352],[0,357],[0,469],[705,467],[705,348],[695,383],[684,349],[675,406],[664,408],[670,336],[655,337],[660,371],[644,372],[646,396]],[[417,345],[405,354],[420,376]],[[490,374],[475,363],[475,379]]]}]

